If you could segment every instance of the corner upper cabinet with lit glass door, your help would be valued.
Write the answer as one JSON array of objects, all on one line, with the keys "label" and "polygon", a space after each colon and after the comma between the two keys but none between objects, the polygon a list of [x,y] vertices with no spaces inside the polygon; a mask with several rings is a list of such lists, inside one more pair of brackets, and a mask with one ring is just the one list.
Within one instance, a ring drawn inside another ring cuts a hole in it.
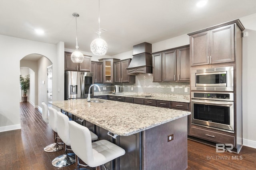
[{"label": "corner upper cabinet with lit glass door", "polygon": [[114,82],[114,62],[120,59],[99,59],[103,62],[103,83]]}]

